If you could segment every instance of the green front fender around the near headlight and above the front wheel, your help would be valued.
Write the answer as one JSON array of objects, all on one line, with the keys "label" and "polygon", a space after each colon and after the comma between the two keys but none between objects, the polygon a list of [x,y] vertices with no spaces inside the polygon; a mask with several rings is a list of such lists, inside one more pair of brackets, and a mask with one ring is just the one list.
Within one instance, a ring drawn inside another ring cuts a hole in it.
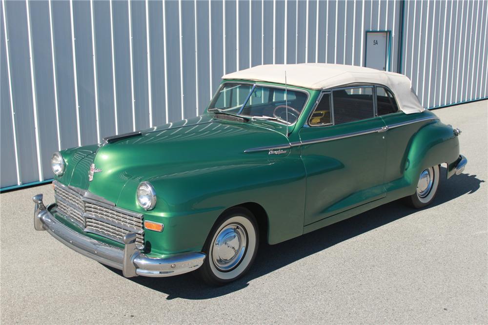
[{"label": "green front fender around the near headlight and above the front wheel", "polygon": [[[249,153],[239,161],[173,166],[148,179],[130,179],[118,206],[144,214],[144,220],[164,224],[157,233],[146,230],[151,250],[173,254],[201,250],[220,214],[245,202],[260,204],[268,217],[268,242],[282,242],[303,233],[305,169],[298,149],[287,156]],[[157,193],[154,210],[137,204],[136,189],[149,181]]]}]

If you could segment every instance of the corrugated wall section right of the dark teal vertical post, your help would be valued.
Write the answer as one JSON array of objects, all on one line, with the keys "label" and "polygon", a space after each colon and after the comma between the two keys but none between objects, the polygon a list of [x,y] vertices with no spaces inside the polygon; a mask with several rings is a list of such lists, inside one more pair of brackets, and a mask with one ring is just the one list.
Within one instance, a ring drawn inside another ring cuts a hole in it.
[{"label": "corrugated wall section right of the dark teal vertical post", "polygon": [[476,92],[486,84],[484,7],[486,1],[406,2],[401,72],[425,107],[487,97]]}]

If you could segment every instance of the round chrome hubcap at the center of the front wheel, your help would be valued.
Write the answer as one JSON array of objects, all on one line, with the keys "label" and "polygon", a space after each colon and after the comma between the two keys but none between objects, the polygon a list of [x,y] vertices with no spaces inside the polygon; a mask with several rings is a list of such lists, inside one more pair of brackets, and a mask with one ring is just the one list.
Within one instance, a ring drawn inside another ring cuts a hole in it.
[{"label": "round chrome hubcap at the center of the front wheel", "polygon": [[240,224],[229,224],[217,235],[212,247],[212,260],[216,268],[229,271],[244,257],[247,234]]}]

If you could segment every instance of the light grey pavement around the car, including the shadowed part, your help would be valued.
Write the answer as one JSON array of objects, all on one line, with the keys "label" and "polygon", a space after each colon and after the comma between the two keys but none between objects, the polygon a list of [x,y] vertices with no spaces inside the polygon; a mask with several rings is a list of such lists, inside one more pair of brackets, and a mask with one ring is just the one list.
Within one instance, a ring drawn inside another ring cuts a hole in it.
[{"label": "light grey pavement around the car, including the shadowed part", "polygon": [[[275,246],[242,280],[126,279],[33,228],[31,197],[0,195],[2,324],[487,324],[488,101],[436,110],[459,127],[463,174],[435,202],[392,202]],[[445,171],[445,169],[443,169]]]}]

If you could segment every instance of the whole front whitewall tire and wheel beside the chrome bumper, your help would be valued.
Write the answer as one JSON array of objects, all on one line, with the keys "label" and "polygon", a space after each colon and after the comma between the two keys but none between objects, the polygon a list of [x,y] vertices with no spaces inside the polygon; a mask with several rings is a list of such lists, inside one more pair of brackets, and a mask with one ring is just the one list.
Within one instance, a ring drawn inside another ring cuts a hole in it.
[{"label": "whole front whitewall tire and wheel beside the chrome bumper", "polygon": [[207,258],[198,269],[201,277],[214,286],[237,280],[254,262],[258,244],[259,230],[251,211],[244,208],[226,211],[203,247]]}]

